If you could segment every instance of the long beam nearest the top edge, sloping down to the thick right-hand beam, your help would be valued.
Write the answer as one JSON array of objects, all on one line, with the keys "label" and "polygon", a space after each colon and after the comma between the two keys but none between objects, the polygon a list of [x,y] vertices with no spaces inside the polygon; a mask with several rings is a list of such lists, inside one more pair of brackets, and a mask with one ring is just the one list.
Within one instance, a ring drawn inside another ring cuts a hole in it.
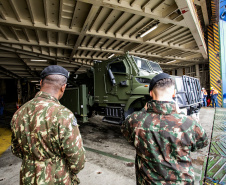
[{"label": "long beam nearest the top edge, sloping down to the thick right-hand beam", "polygon": [[78,0],[80,2],[84,2],[84,3],[89,3],[89,4],[93,4],[93,5],[97,5],[97,6],[103,6],[103,7],[107,7],[107,8],[111,8],[111,9],[116,9],[119,11],[123,11],[123,12],[128,12],[131,14],[136,14],[136,15],[140,15],[140,16],[144,16],[144,17],[149,17],[152,19],[156,19],[159,20],[162,23],[165,24],[175,24],[178,26],[184,26],[187,27],[187,25],[185,24],[185,22],[182,21],[174,21],[171,20],[169,18],[163,18],[161,16],[155,15],[150,9],[145,8],[145,10],[143,11],[141,6],[131,6],[131,4],[133,5],[133,2],[130,4],[127,1],[124,1],[123,3],[118,3],[117,1],[107,1],[107,0]]}]

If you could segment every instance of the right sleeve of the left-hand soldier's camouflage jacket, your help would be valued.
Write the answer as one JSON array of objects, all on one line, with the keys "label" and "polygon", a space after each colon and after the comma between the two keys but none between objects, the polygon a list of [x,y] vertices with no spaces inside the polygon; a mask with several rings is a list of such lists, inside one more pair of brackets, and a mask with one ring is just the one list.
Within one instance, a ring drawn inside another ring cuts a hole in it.
[{"label": "right sleeve of the left-hand soldier's camouflage jacket", "polygon": [[58,115],[60,144],[67,165],[71,172],[73,183],[79,183],[77,175],[84,168],[85,150],[77,125],[77,120],[72,113],[62,112]]}]

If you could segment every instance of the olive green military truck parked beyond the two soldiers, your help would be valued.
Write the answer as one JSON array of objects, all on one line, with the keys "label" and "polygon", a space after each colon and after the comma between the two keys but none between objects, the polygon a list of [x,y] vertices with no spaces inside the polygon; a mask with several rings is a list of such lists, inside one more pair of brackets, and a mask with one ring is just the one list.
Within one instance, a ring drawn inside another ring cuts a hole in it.
[{"label": "olive green military truck parked beyond the two soldiers", "polygon": [[[158,63],[128,53],[106,61],[94,61],[87,73],[72,75],[61,103],[83,122],[96,114],[103,121],[121,124],[150,99],[149,83],[162,73]],[[172,76],[176,82],[176,102],[188,115],[197,113],[202,104],[201,88],[197,78]]]}]

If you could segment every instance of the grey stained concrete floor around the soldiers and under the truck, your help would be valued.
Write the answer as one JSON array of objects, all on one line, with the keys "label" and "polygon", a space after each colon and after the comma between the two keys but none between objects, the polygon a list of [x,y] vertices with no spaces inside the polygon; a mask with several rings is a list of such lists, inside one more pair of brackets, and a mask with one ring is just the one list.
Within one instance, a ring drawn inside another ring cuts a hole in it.
[{"label": "grey stained concrete floor around the soldiers and under the truck", "polygon": [[[211,138],[214,118],[213,108],[202,108],[200,124]],[[1,127],[1,124],[0,124]],[[135,185],[134,148],[122,137],[120,128],[101,122],[100,116],[95,116],[89,123],[81,124],[87,162],[85,168],[78,174],[81,185]],[[1,137],[1,133],[0,133]],[[196,184],[202,176],[203,164],[209,147],[192,154],[192,162],[196,172]],[[0,156],[0,185],[19,184],[21,160],[14,157],[10,147]]]}]

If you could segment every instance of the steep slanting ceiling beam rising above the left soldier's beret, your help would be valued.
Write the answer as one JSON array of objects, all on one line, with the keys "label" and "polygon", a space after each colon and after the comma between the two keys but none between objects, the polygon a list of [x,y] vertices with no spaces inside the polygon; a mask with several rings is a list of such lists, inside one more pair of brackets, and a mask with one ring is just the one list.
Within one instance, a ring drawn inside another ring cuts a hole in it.
[{"label": "steep slanting ceiling beam rising above the left soldier's beret", "polygon": [[94,19],[95,14],[97,13],[98,9],[99,9],[99,6],[96,6],[96,5],[93,5],[92,8],[90,9],[90,12],[89,12],[89,14],[88,14],[88,16],[86,18],[86,21],[85,21],[85,23],[83,25],[82,31],[79,34],[79,37],[78,37],[78,39],[77,39],[77,41],[76,41],[76,43],[74,45],[74,48],[73,48],[73,50],[71,52],[71,55],[70,55],[70,58],[69,58],[70,61],[72,60],[73,55],[75,54],[75,51],[78,49],[80,43],[82,42],[82,39],[85,36],[87,30],[89,29],[89,26],[91,25],[92,20]]}]

